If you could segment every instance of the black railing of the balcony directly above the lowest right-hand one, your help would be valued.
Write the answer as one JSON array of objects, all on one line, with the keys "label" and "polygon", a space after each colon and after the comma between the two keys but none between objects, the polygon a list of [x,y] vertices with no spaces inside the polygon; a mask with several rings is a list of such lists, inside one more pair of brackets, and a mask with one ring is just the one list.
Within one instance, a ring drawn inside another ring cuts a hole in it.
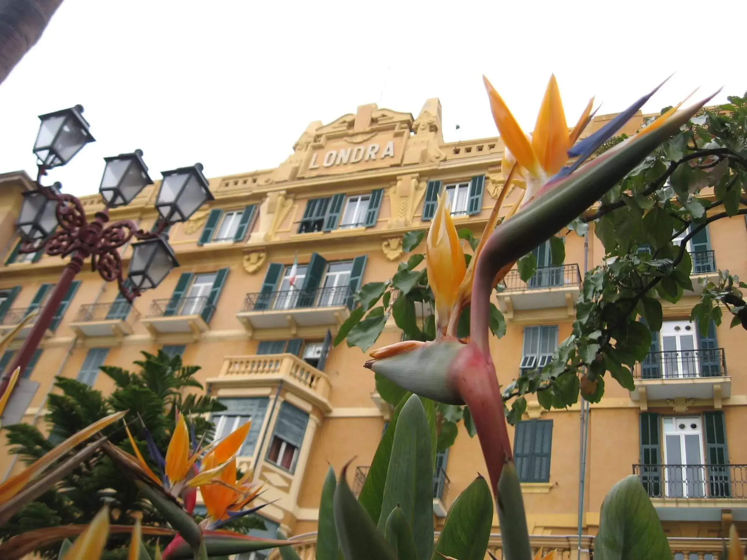
[{"label": "black railing of the balcony directly above the lowest right-hand one", "polygon": [[725,375],[723,348],[648,352],[645,360],[633,368],[636,379],[693,379]]}]

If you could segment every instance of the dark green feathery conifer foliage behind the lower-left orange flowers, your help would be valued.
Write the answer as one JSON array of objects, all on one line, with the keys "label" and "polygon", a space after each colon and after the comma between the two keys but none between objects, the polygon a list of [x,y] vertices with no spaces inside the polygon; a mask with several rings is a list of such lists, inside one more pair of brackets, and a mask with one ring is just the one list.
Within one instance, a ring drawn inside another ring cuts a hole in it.
[{"label": "dark green feathery conifer foliage behind the lower-left orange flowers", "polygon": [[[49,394],[46,402],[49,412],[44,417],[50,428],[49,438],[28,424],[7,426],[5,432],[10,452],[18,453],[22,461],[31,463],[85,426],[108,414],[127,409],[129,413],[125,421],[146,458],[149,453],[140,419],[148,426],[156,446],[162,452],[167,448],[175,426],[177,409],[190,419],[198,439],[203,436],[208,440],[212,438],[213,425],[203,415],[221,411],[224,407],[217,399],[204,395],[196,397],[194,393],[187,392],[189,389],[202,389],[195,379],[199,367],[183,366],[180,356],[170,357],[160,350],[158,355],[143,352],[143,360],[135,362],[135,365],[139,367],[137,373],[119,367],[102,367],[102,372],[114,382],[114,391],[108,397],[75,379],[56,379],[58,391]],[[114,445],[132,452],[121,423],[108,427],[102,433]],[[155,463],[152,462],[150,466],[158,472]],[[127,511],[143,511],[143,525],[157,525],[165,521],[157,510],[143,500],[137,488],[122,476],[111,460],[102,456],[96,461],[81,464],[63,479],[61,485],[25,505],[19,514],[0,528],[0,536],[6,539],[42,527],[89,523],[105,500],[112,509],[123,512],[117,523],[134,524]],[[236,520],[238,524],[232,524],[231,528],[243,532],[253,526],[262,526],[258,517],[248,517],[250,519]],[[103,558],[120,558],[128,543],[128,535],[112,535]],[[58,552],[59,547],[49,547],[40,554],[45,559],[54,559]]]}]

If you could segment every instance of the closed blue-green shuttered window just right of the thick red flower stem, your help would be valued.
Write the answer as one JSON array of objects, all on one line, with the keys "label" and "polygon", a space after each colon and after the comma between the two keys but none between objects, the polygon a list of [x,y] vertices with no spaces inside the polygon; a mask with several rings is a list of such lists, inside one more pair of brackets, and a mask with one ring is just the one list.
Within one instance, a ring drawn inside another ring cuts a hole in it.
[{"label": "closed blue-green shuttered window just right of the thick red flower stem", "polygon": [[522,420],[516,423],[514,458],[521,482],[550,482],[552,420]]}]

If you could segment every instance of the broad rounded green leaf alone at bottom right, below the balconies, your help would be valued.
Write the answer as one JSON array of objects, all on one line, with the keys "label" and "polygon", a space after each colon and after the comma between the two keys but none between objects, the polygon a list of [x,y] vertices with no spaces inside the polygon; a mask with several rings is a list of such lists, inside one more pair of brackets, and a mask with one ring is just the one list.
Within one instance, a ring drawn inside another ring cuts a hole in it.
[{"label": "broad rounded green leaf alone at bottom right, below the balconies", "polygon": [[636,475],[612,487],[602,503],[595,560],[672,558],[661,521]]}]

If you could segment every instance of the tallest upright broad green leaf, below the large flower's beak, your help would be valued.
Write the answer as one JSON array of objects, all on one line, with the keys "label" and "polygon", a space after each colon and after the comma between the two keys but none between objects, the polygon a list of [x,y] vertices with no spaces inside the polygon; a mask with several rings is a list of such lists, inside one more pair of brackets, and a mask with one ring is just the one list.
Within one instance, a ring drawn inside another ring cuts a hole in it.
[{"label": "tallest upright broad green leaf, below the large flower's beak", "polygon": [[384,487],[379,529],[397,506],[412,528],[418,560],[433,552],[433,447],[426,411],[412,395],[400,413]]}]

